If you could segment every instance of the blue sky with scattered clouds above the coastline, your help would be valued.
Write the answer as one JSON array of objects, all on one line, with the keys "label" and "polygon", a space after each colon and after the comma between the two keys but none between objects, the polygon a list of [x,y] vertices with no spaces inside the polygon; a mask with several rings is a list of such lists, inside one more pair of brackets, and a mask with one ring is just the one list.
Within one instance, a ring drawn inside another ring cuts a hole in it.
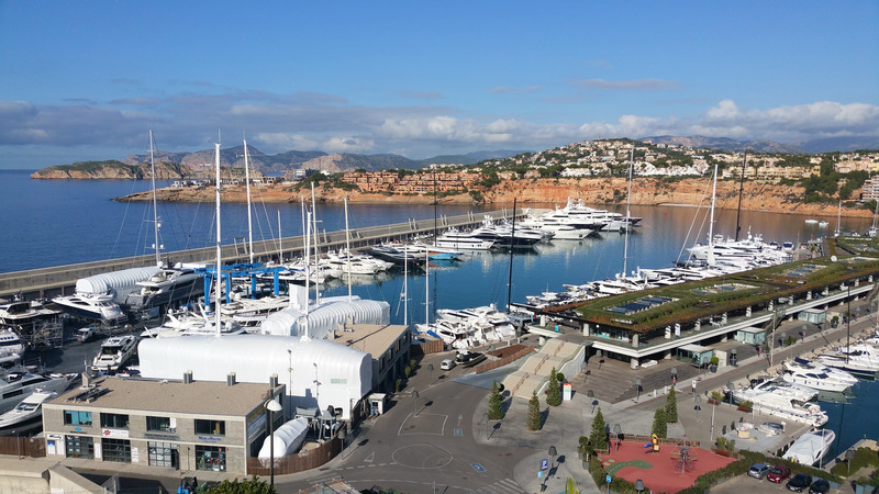
[{"label": "blue sky with scattered clouds above the coastline", "polygon": [[[253,4],[251,4],[253,3]],[[879,135],[879,1],[0,0],[0,168]]]}]

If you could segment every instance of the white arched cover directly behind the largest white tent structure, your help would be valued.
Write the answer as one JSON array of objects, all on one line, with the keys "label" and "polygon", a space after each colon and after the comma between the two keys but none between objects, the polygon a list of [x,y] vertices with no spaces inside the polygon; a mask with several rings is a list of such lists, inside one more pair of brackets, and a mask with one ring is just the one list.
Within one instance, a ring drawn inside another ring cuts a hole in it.
[{"label": "white arched cover directly behind the largest white tent structure", "polygon": [[264,335],[308,336],[324,339],[345,324],[390,324],[391,306],[385,301],[359,300],[348,301],[347,296],[335,296],[321,300],[321,305],[309,307],[305,316],[297,307],[288,307],[270,314],[263,322],[260,332]]}]

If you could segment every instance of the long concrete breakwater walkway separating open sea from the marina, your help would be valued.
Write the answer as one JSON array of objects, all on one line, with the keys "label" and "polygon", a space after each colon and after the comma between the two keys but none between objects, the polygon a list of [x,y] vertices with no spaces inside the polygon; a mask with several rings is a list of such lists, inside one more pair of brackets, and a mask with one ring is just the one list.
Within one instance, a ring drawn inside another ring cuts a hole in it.
[{"label": "long concrete breakwater walkway separating open sea from the marina", "polygon": [[[436,220],[410,218],[405,223],[349,229],[351,246],[354,249],[385,242],[408,239],[420,235],[433,234],[434,229],[445,231],[449,227],[471,228],[481,224],[485,215],[491,215],[496,220],[510,220],[512,218],[512,211],[504,209],[485,213],[469,212],[457,216],[439,216]],[[520,210],[516,217],[523,216],[524,213]],[[344,248],[346,237],[345,231],[320,231],[318,233],[318,242],[322,249]],[[253,245],[254,260],[257,262],[277,261],[279,257],[291,259],[302,256],[303,250],[303,236],[254,242]],[[163,254],[165,262],[169,266],[177,262],[212,263],[215,257],[215,246]],[[222,246],[222,257],[229,263],[247,262],[251,258],[249,246],[246,242],[224,245]],[[145,255],[0,273],[0,297],[9,297],[18,293],[29,300],[68,295],[73,293],[76,281],[80,278],[154,265],[155,256]]]}]

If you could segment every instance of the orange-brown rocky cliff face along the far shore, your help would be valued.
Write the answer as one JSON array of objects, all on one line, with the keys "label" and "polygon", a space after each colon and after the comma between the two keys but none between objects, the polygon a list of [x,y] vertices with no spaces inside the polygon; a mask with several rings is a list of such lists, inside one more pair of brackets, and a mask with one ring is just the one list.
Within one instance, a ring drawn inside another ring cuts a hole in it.
[{"label": "orange-brown rocky cliff face along the far shore", "polygon": [[[734,210],[738,207],[738,182],[724,181],[717,183],[716,207]],[[482,197],[487,203],[512,204],[513,199],[526,206],[536,203],[554,203],[564,205],[568,198],[582,199],[588,204],[625,204],[628,182],[623,178],[602,179],[535,179],[504,181]],[[187,188],[163,189],[158,192],[162,201],[171,202],[211,202],[214,189]],[[259,198],[263,202],[299,202],[301,195],[309,195],[305,189],[296,191],[290,186],[260,187]],[[433,195],[386,195],[363,193],[319,187],[315,189],[319,202],[342,202],[348,198],[352,203],[360,204],[432,204]],[[776,213],[799,213],[822,216],[835,216],[837,206],[833,204],[803,204],[801,187],[787,187],[765,183],[745,183],[742,197],[742,209],[750,211],[768,211]],[[149,193],[120,198],[122,201],[151,200]],[[245,202],[244,187],[224,188],[223,201]],[[441,203],[474,204],[476,201],[469,193],[438,198]],[[709,205],[711,203],[711,181],[706,179],[686,179],[663,181],[656,179],[635,179],[632,181],[632,204],[641,205]],[[846,216],[871,216],[871,212],[861,209],[843,209]]]}]

